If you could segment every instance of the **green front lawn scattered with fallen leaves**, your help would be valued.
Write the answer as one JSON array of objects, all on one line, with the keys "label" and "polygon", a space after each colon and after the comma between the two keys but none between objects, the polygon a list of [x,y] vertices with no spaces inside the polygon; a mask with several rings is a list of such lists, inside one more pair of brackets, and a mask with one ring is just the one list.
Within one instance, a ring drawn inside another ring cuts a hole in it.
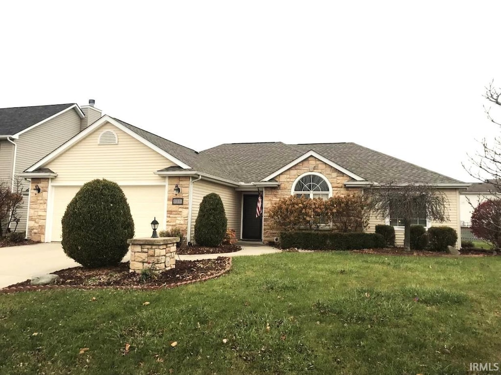
[{"label": "green front lawn scattered with fallen leaves", "polygon": [[169,290],[1,295],[0,373],[466,373],[501,358],[499,274],[501,257],[279,253]]}]

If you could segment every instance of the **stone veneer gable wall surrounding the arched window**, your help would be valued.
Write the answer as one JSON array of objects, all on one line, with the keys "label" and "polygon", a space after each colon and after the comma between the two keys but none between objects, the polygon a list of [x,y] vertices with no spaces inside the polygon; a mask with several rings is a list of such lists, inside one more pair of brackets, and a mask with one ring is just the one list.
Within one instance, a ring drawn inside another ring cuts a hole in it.
[{"label": "stone veneer gable wall surrounding the arched window", "polygon": [[332,194],[344,194],[348,191],[360,190],[360,188],[346,188],[343,184],[351,180],[351,177],[333,168],[329,164],[310,156],[307,159],[300,161],[290,169],[275,177],[280,182],[279,187],[265,187],[263,199],[263,240],[273,241],[278,236],[279,231],[273,228],[268,212],[270,208],[280,199],[291,195],[292,184],[303,173],[317,172],[323,174],[332,185]]}]

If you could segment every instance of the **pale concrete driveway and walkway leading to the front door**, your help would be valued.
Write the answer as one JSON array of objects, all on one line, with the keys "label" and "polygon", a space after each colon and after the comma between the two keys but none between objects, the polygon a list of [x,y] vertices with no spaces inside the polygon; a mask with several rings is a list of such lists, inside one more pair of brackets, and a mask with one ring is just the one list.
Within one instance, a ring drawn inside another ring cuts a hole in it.
[{"label": "pale concrete driveway and walkway leading to the front door", "polygon": [[[280,252],[263,242],[240,241],[240,251],[222,254],[179,255],[181,260],[210,259],[218,256],[261,255]],[[129,261],[127,253],[123,261]],[[60,242],[0,247],[0,288],[51,273],[59,269],[78,267],[80,264],[66,256]]]}]

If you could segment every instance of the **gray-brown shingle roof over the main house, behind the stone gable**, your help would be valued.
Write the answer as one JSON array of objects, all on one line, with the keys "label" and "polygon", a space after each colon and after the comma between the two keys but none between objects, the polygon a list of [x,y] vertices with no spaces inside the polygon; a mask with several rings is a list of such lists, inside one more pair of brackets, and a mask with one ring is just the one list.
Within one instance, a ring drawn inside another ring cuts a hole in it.
[{"label": "gray-brown shingle roof over the main house, behind the stone gable", "polygon": [[226,143],[201,151],[238,181],[260,181],[313,150],[368,181],[460,183],[461,181],[356,143]]}]

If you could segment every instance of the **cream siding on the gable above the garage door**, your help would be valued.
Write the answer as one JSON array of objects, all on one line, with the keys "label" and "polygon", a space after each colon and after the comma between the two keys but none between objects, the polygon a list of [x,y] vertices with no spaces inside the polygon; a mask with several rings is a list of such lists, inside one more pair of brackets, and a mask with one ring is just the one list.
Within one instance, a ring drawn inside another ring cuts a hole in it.
[{"label": "cream siding on the gable above the garage door", "polygon": [[[98,144],[99,135],[106,130],[117,134],[118,144]],[[164,177],[153,172],[171,165],[175,164],[116,126],[105,123],[45,167],[58,173],[55,184],[75,184],[94,178],[165,183]]]}]

